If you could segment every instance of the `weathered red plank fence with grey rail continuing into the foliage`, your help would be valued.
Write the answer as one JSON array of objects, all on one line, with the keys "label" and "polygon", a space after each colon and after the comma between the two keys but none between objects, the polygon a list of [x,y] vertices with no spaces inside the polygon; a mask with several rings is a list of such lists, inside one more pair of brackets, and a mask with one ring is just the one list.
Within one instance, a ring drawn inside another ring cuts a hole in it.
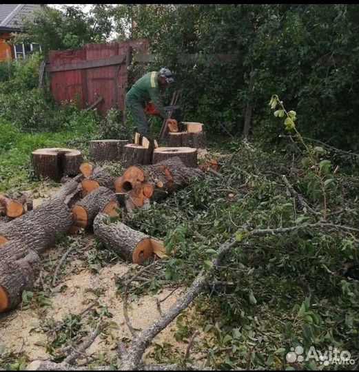
[{"label": "weathered red plank fence with grey rail continuing into the foliage", "polygon": [[[114,107],[125,110],[127,66],[134,63],[151,63],[155,54],[148,54],[147,39],[121,43],[86,44],[76,50],[50,52],[46,72],[51,75],[51,92],[54,101],[75,101],[79,108],[96,107],[106,114]],[[178,54],[177,62],[194,65],[209,62],[238,61],[238,54]]]}]

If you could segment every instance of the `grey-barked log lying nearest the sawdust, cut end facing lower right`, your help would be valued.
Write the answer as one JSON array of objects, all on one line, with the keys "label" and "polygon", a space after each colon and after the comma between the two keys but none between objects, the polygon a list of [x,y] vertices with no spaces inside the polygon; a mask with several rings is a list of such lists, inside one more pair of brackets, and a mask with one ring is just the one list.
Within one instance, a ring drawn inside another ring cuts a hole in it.
[{"label": "grey-barked log lying nearest the sawdust, cut end facing lower right", "polygon": [[[94,234],[98,236],[107,249],[111,249],[124,260],[142,264],[153,256],[155,250],[161,251],[159,240],[152,240],[151,236],[136,231],[116,221],[107,225],[107,216],[98,214],[94,219]],[[163,249],[164,251],[164,249]]]}]

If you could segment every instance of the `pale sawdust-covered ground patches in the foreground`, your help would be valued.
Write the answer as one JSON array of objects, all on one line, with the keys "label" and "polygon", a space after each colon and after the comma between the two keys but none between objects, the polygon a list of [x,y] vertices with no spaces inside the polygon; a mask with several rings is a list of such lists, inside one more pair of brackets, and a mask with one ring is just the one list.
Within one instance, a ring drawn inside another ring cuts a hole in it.
[{"label": "pale sawdust-covered ground patches in the foreground", "polygon": [[[78,265],[78,263],[74,261],[72,265]],[[66,285],[67,288],[65,291],[55,293],[54,296],[50,297],[51,306],[46,308],[45,314],[43,311],[38,311],[38,309],[17,309],[3,315],[2,319],[0,319],[0,344],[5,347],[7,352],[25,352],[30,360],[50,358],[43,346],[47,341],[47,336],[45,332],[39,329],[41,322],[44,323],[48,320],[60,321],[70,313],[79,314],[91,302],[97,300],[99,302],[97,308],[107,307],[108,311],[113,315],[110,321],[115,322],[118,328],[111,329],[110,333],[106,331],[105,335],[100,335],[87,353],[88,355],[102,354],[105,358],[108,357],[110,359],[115,358],[119,340],[122,338],[131,339],[132,336],[123,316],[121,296],[116,295],[114,276],[123,276],[130,267],[131,265],[119,262],[114,266],[103,267],[99,273],[92,273],[88,269],[83,269],[79,273],[72,273],[59,283],[59,286]],[[89,289],[96,289],[100,292],[99,298]],[[160,316],[156,306],[156,298],[162,300],[171,291],[171,289],[164,289],[156,296],[145,295],[132,301],[128,307],[132,326],[135,329],[143,329],[156,320]],[[161,311],[165,313],[180,295],[181,289],[178,289],[172,296],[161,302]],[[160,345],[170,344],[177,351],[183,351],[184,353],[187,344],[175,340],[175,331],[176,322],[174,321],[156,336],[154,342]],[[151,348],[148,349],[147,355],[149,353],[151,353]]]}]

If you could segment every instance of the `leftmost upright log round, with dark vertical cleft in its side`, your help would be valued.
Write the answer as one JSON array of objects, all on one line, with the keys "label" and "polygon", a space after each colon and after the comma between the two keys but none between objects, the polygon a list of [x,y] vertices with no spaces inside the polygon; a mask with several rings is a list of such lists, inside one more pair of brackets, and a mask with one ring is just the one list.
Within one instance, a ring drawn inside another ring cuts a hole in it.
[{"label": "leftmost upright log round, with dark vertical cleft in its side", "polygon": [[31,153],[34,176],[48,177],[59,182],[67,174],[76,176],[83,156],[79,150],[63,148],[37,149]]}]

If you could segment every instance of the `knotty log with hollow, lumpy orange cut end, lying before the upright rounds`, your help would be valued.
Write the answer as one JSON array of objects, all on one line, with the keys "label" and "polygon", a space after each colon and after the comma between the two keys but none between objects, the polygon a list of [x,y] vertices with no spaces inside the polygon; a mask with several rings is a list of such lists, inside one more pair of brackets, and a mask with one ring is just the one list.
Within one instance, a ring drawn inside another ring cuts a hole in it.
[{"label": "knotty log with hollow, lumpy orange cut end, lying before the upright rounds", "polygon": [[135,209],[143,207],[146,200],[161,200],[202,176],[201,169],[186,167],[176,156],[161,163],[128,167],[116,178],[115,187],[116,193],[130,197],[130,207]]}]

